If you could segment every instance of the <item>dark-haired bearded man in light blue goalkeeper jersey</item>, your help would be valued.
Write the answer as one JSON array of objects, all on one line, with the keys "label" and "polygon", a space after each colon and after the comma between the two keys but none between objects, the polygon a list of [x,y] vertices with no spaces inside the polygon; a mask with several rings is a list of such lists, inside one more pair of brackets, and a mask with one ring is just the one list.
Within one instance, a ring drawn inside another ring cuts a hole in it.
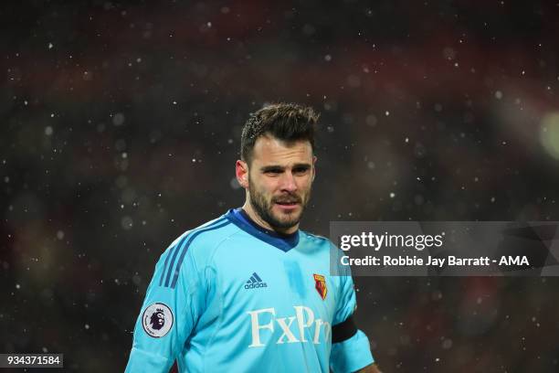
[{"label": "dark-haired bearded man in light blue goalkeeper jersey", "polygon": [[299,229],[311,197],[318,115],[251,114],[236,172],[242,208],[185,232],[155,266],[127,372],[378,372],[353,324],[351,276],[329,240]]}]

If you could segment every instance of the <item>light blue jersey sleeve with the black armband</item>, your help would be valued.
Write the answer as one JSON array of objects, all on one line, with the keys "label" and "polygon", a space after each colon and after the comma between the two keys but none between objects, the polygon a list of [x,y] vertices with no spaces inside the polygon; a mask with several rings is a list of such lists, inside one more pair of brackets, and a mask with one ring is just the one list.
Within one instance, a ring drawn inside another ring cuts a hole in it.
[{"label": "light blue jersey sleeve with the black armband", "polygon": [[[341,293],[338,308],[332,320],[330,368],[334,373],[354,372],[373,364],[374,357],[371,354],[369,339],[353,324],[356,298],[351,273],[340,276],[339,279]],[[335,334],[342,335],[342,337],[336,337]]]}]

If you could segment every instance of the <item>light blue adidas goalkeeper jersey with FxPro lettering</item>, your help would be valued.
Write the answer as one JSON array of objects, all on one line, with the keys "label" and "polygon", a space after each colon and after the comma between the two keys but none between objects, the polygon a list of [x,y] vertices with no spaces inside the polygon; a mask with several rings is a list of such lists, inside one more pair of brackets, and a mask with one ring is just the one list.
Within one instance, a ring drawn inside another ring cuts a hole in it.
[{"label": "light blue adidas goalkeeper jersey with FxPro lettering", "polygon": [[[127,372],[350,372],[372,364],[332,243],[279,236],[243,210],[185,232],[155,266]],[[332,332],[333,330],[333,332]],[[332,335],[333,341],[332,343]]]}]

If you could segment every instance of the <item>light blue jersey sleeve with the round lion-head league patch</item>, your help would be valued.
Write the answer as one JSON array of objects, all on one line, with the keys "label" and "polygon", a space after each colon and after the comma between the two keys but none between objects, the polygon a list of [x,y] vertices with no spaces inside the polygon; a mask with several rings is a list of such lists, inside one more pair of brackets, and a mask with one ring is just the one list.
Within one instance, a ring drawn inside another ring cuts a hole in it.
[{"label": "light blue jersey sleeve with the round lion-head league patch", "polygon": [[155,265],[134,327],[127,373],[168,372],[204,312],[210,279],[192,250],[182,248],[180,240],[174,243]]}]

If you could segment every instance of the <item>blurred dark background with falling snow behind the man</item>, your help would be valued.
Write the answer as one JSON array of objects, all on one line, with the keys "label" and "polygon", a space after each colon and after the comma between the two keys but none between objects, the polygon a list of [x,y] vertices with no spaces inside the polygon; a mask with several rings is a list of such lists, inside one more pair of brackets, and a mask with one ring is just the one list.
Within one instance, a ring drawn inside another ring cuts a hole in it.
[{"label": "blurred dark background with falling snow behind the man", "polygon": [[[3,2],[0,352],[121,371],[159,255],[244,194],[240,129],[322,112],[303,229],[559,220],[556,1]],[[358,278],[385,372],[559,371],[559,279]]]}]

